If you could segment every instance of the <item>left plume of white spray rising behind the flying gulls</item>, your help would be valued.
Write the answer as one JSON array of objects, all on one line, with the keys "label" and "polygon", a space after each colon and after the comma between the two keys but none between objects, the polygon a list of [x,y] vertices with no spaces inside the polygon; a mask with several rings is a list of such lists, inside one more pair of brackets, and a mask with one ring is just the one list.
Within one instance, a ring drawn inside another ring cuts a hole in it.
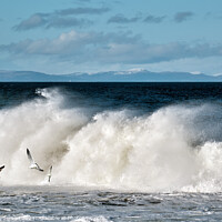
[{"label": "left plume of white spray rising behind the flying gulls", "polygon": [[[54,94],[54,90],[49,90]],[[42,174],[28,168],[26,149],[44,169],[58,164],[68,151],[64,141],[85,124],[75,109],[62,109],[62,98],[49,97],[0,112],[0,161],[6,164],[1,181],[6,184],[38,184]]]}]

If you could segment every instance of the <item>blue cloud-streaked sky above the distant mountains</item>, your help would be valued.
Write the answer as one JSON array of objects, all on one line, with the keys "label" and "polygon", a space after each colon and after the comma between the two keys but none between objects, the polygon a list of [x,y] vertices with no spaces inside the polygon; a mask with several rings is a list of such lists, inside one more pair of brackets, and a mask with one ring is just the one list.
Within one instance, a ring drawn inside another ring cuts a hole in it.
[{"label": "blue cloud-streaked sky above the distant mountains", "polygon": [[222,0],[0,0],[0,70],[222,74]]}]

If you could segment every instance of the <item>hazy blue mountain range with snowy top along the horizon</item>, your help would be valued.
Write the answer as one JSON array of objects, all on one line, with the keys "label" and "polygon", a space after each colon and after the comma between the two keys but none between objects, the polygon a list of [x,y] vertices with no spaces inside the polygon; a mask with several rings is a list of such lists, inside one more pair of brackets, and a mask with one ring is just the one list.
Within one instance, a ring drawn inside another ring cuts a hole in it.
[{"label": "hazy blue mountain range with snowy top along the horizon", "polygon": [[32,71],[0,71],[0,82],[222,82],[222,75],[189,72],[110,71],[72,74],[46,74]]}]

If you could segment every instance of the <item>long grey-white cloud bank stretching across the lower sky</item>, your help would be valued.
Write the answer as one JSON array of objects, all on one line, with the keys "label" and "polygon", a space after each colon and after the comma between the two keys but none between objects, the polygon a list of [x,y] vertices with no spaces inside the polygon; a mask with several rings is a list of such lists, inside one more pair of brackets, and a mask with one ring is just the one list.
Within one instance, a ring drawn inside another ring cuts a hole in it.
[{"label": "long grey-white cloud bank stretching across the lower sky", "polygon": [[103,33],[70,31],[54,39],[23,40],[0,46],[18,57],[42,56],[85,63],[144,64],[184,58],[221,57],[222,44],[170,42],[152,44],[131,32]]}]

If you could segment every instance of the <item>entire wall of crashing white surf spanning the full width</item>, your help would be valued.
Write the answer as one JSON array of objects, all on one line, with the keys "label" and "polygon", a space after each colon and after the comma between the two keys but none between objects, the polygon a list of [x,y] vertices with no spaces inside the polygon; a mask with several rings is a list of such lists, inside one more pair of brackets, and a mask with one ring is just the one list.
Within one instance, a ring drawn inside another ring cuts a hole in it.
[{"label": "entire wall of crashing white surf spanning the full width", "polygon": [[[222,191],[216,105],[171,105],[147,115],[67,105],[58,90],[0,110],[0,183],[145,192]],[[216,134],[214,133],[216,132]],[[44,169],[29,169],[27,148]]]}]

